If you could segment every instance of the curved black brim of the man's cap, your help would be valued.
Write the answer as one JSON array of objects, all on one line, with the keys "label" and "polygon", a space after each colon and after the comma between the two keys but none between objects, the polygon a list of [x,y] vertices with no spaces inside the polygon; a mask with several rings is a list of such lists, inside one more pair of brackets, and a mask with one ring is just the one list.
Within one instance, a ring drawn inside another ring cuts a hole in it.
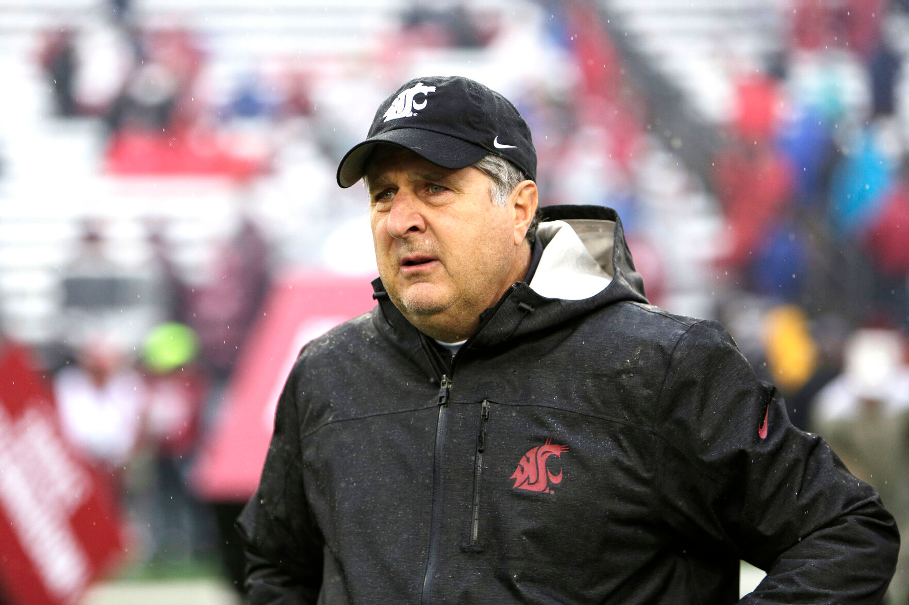
[{"label": "curved black brim of the man's cap", "polygon": [[452,169],[466,168],[489,153],[479,145],[467,143],[448,134],[439,134],[422,128],[396,128],[376,134],[352,147],[338,165],[339,185],[349,187],[363,178],[366,173],[366,161],[377,144],[404,147],[437,166]]}]

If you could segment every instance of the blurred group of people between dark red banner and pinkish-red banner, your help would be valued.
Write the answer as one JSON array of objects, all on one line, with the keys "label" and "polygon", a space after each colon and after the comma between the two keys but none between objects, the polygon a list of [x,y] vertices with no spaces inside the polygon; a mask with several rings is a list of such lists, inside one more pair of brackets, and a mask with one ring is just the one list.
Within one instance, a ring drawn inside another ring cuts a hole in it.
[{"label": "blurred group of people between dark red banner and pinkish-red banner", "polygon": [[[65,339],[49,355],[65,437],[108,481],[133,531],[133,564],[223,558],[241,502],[202,501],[191,474],[250,329],[268,293],[269,246],[242,221],[210,278],[187,283],[160,225],[148,225],[152,261],[128,272],[105,247],[104,225],[83,225],[62,271]],[[124,319],[124,316],[130,318]],[[145,326],[138,346],[122,323]],[[219,536],[221,536],[219,538]]]}]

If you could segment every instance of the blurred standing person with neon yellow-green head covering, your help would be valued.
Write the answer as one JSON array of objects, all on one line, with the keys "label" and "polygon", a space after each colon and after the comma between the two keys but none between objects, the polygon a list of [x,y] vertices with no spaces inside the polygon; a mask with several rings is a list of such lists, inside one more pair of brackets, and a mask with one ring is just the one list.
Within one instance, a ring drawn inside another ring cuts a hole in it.
[{"label": "blurred standing person with neon yellow-green head covering", "polygon": [[199,438],[205,377],[195,365],[198,340],[182,323],[163,323],[145,339],[146,434],[155,451],[155,556],[180,560],[205,543],[203,505],[187,487]]}]

